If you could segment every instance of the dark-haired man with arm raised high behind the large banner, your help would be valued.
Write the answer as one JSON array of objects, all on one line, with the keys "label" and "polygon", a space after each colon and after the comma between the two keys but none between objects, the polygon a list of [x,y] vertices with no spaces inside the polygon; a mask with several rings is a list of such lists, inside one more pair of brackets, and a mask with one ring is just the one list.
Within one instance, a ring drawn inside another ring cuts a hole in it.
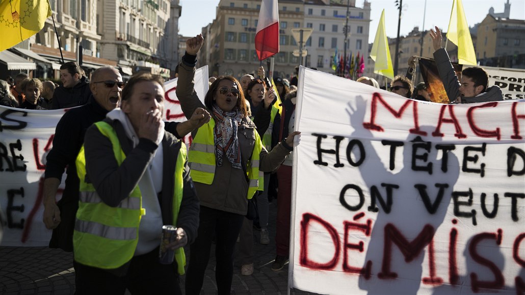
[{"label": "dark-haired man with arm raised high behind the large banner", "polygon": [[434,46],[439,77],[447,92],[450,103],[472,103],[503,100],[503,93],[499,86],[488,87],[489,75],[482,67],[470,67],[461,72],[461,82],[456,76],[454,67],[450,63],[447,50],[441,46],[443,36],[441,30],[430,29],[430,37]]}]

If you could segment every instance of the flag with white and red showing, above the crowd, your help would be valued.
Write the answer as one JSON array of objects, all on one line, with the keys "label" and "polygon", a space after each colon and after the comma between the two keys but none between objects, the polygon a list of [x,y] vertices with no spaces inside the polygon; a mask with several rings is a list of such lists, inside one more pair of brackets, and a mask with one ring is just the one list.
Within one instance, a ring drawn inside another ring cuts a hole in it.
[{"label": "flag with white and red showing, above the crowd", "polygon": [[255,51],[259,60],[279,52],[279,5],[277,0],[262,0],[255,34]]}]

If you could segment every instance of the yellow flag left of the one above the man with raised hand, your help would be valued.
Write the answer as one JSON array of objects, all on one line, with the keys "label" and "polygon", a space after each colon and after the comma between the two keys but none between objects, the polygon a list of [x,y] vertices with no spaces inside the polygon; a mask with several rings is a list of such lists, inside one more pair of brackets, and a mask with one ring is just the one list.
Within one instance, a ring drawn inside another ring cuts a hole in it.
[{"label": "yellow flag left of the one above the man with raised hand", "polygon": [[394,79],[394,67],[392,67],[392,58],[388,48],[388,39],[386,38],[385,29],[385,9],[381,13],[379,26],[375,33],[374,44],[370,51],[370,57],[375,61],[374,73],[383,75],[386,78]]}]

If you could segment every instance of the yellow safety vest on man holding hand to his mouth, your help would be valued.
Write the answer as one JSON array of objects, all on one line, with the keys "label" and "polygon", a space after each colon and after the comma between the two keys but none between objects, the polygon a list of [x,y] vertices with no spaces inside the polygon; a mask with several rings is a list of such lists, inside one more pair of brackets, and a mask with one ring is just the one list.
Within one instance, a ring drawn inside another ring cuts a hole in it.
[{"label": "yellow safety vest on man holding hand to his mouth", "polygon": [[[119,165],[125,159],[117,133],[106,122],[95,123],[98,130],[113,146],[113,154]],[[173,194],[173,225],[176,226],[183,194],[183,173],[186,162],[186,145],[182,144],[175,166],[175,188]],[[86,157],[84,146],[77,156],[77,174],[80,179],[79,207],[73,234],[75,260],[83,265],[115,269],[133,258],[139,241],[139,225],[145,209],[142,208],[142,195],[135,186],[129,197],[118,207],[106,205],[91,183],[86,183]],[[159,237],[160,244],[160,237]],[[183,248],[175,250],[178,273],[184,274],[186,256]]]}]

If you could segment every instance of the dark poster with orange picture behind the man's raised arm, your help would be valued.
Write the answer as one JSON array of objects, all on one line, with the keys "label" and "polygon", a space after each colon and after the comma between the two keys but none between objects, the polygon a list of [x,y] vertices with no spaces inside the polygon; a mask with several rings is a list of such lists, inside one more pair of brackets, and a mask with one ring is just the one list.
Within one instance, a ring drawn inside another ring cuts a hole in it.
[{"label": "dark poster with orange picture behind the man's raised arm", "polygon": [[[448,101],[447,93],[445,92],[445,87],[443,87],[443,82],[441,81],[441,78],[439,78],[436,61],[434,59],[424,57],[419,57],[418,59],[419,69],[421,69],[423,81],[425,81],[425,84],[430,90],[430,100],[439,103],[450,103]],[[454,66],[456,76],[458,76],[458,80],[460,80],[463,65],[453,62],[452,66]]]}]

